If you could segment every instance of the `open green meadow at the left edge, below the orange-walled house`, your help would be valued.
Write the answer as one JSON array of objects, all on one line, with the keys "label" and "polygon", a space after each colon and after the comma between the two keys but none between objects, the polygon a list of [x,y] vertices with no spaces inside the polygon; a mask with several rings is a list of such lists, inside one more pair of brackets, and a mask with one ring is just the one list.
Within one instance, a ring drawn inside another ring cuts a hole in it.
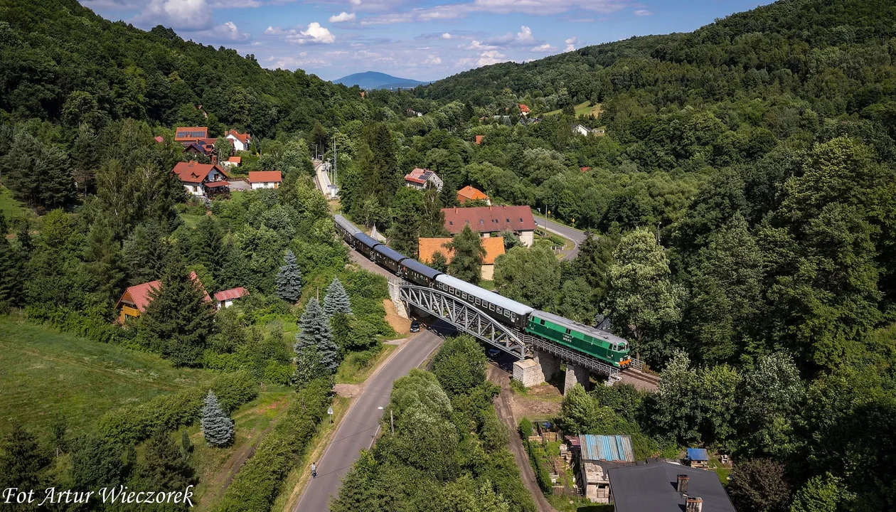
[{"label": "open green meadow at the left edge, below the orange-walled house", "polygon": [[210,377],[155,355],[0,317],[0,431],[19,422],[47,435],[49,419],[61,414],[77,434],[111,409]]}]

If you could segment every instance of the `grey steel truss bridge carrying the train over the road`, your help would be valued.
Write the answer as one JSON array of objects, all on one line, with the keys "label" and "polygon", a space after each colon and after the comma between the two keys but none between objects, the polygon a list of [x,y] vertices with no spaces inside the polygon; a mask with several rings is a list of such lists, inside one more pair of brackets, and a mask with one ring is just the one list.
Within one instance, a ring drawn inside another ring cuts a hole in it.
[{"label": "grey steel truss bridge carrying the train over the road", "polygon": [[535,350],[545,351],[565,363],[582,366],[595,373],[606,375],[611,381],[619,378],[619,369],[580,351],[573,351],[564,345],[521,333],[489,317],[485,311],[469,302],[458,299],[449,293],[411,284],[401,279],[390,279],[389,284],[398,288],[399,298],[406,305],[418,308],[433,317],[441,318],[457,327],[458,330],[511,353],[520,360],[525,359],[527,355],[532,355]]}]

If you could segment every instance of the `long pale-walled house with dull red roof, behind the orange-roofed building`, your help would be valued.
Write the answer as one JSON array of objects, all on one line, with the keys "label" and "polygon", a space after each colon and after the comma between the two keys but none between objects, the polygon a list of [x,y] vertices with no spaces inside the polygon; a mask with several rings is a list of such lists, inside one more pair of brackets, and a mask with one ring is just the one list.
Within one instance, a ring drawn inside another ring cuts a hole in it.
[{"label": "long pale-walled house with dull red roof, behind the orange-roofed building", "polygon": [[445,229],[453,235],[463,230],[465,224],[483,238],[501,231],[513,231],[522,245],[535,243],[535,218],[529,206],[476,206],[472,208],[443,208]]}]

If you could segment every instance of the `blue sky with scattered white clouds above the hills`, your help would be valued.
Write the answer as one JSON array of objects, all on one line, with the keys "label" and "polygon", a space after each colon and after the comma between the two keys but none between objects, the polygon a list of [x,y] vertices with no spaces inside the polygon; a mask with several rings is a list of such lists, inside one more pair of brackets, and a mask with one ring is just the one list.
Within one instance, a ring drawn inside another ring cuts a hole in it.
[{"label": "blue sky with scattered white clouds above the hills", "polygon": [[634,35],[694,30],[759,0],[82,0],[109,20],[254,54],[325,80],[437,80]]}]

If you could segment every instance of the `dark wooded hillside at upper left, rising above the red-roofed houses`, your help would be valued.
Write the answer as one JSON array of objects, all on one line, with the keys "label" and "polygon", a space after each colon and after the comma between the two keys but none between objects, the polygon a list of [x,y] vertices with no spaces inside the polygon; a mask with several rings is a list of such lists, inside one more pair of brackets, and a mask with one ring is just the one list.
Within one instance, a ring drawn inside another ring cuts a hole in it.
[{"label": "dark wooded hillside at upper left, rising above the red-roofed houses", "polygon": [[0,2],[0,68],[7,114],[94,130],[130,117],[272,136],[369,116],[357,90],[302,70],[264,70],[254,56],[162,26],[108,22],[75,0]]}]

